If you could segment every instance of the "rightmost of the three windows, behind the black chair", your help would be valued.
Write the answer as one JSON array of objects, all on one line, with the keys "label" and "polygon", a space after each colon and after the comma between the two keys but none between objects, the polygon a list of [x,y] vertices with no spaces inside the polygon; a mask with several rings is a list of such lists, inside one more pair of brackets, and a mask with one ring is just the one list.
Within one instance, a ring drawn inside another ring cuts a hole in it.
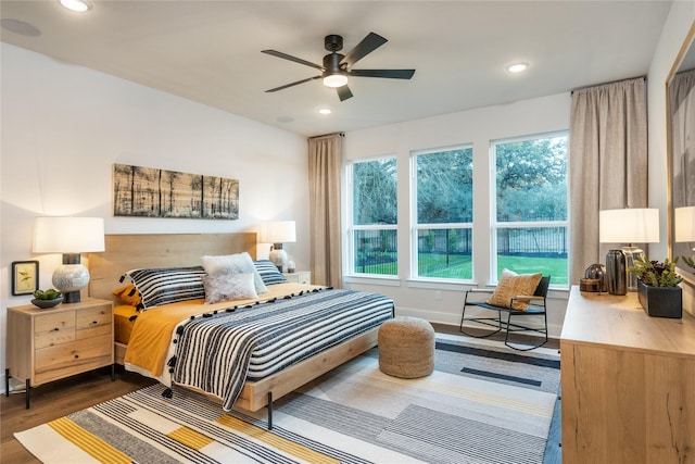
[{"label": "rightmost of the three windows, behind the black chair", "polygon": [[542,272],[567,286],[567,133],[495,141],[492,152],[493,273]]}]

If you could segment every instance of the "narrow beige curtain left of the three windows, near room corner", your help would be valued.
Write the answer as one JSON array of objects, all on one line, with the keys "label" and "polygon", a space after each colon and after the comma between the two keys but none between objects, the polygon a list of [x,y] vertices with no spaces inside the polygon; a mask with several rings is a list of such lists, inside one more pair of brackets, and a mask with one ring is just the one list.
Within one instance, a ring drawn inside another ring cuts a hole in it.
[{"label": "narrow beige curtain left of the three windows, near room corner", "polygon": [[342,135],[308,139],[312,283],[342,287]]}]

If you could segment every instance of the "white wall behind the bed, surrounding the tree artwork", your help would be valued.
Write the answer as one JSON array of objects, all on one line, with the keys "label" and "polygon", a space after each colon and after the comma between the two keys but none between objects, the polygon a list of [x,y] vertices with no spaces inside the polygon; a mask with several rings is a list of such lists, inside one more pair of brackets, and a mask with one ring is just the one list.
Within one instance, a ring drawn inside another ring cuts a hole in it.
[{"label": "white wall behind the bed, surrounding the tree artwork", "polygon": [[[12,296],[11,263],[39,260],[41,288],[60,264],[59,254],[31,253],[35,216],[102,216],[108,234],[228,233],[294,220],[299,241],[287,251],[308,268],[305,138],[7,43],[0,53],[0,373],[5,309],[30,300]],[[239,179],[240,218],[113,217],[113,163]]]}]

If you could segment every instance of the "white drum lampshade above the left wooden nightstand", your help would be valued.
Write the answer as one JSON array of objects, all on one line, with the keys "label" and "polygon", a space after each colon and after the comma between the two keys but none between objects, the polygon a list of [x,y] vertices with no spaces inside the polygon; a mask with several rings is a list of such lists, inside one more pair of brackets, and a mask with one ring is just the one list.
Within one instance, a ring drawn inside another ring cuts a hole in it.
[{"label": "white drum lampshade above the left wooden nightstand", "polygon": [[37,217],[34,222],[35,253],[104,251],[102,217]]}]

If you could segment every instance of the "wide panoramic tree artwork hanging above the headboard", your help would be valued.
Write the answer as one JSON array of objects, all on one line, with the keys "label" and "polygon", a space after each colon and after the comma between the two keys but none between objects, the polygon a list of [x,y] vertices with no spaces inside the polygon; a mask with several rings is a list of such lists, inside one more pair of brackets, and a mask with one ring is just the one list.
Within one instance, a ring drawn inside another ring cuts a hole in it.
[{"label": "wide panoramic tree artwork hanging above the headboard", "polygon": [[239,180],[113,165],[114,216],[239,218]]}]

